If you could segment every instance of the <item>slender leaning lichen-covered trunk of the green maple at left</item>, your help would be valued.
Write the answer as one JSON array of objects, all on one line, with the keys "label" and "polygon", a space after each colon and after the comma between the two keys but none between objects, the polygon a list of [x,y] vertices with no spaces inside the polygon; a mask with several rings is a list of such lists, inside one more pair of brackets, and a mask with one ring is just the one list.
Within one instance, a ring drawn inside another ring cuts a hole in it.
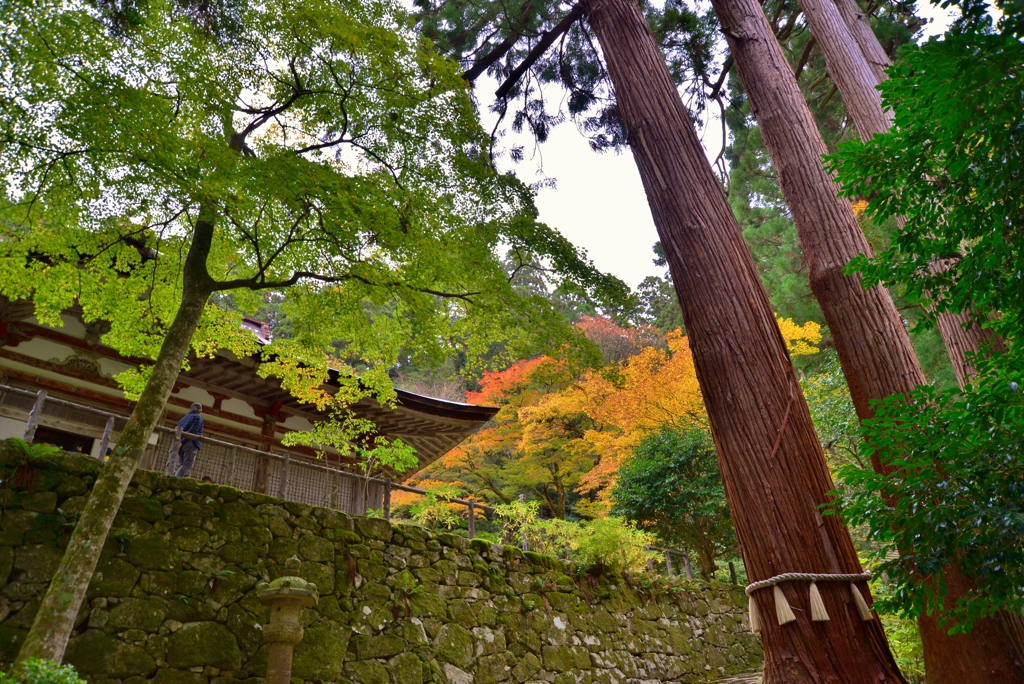
[{"label": "slender leaning lichen-covered trunk of the green maple at left", "polygon": [[96,569],[99,554],[111,531],[125,490],[142,458],[150,435],[157,427],[167,397],[188,352],[193,333],[199,325],[213,281],[206,269],[213,239],[213,222],[205,212],[196,223],[191,246],[182,273],[181,305],[160,347],[153,375],[132,411],[118,444],[103,467],[86,502],[63,558],[53,573],[49,589],[39,606],[32,630],[17,655],[17,662],[30,657],[60,662],[78,614]]}]

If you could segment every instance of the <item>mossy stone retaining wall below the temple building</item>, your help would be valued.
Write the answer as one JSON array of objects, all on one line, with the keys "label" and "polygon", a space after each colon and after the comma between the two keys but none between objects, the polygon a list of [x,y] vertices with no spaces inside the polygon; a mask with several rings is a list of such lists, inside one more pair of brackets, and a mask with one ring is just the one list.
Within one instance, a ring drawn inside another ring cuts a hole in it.
[{"label": "mossy stone retaining wall below the temple building", "polygon": [[[0,661],[16,654],[98,464],[0,444]],[[742,591],[635,591],[552,558],[136,474],[66,661],[94,684],[262,684],[257,582],[298,555],[293,684],[706,682],[756,667]]]}]

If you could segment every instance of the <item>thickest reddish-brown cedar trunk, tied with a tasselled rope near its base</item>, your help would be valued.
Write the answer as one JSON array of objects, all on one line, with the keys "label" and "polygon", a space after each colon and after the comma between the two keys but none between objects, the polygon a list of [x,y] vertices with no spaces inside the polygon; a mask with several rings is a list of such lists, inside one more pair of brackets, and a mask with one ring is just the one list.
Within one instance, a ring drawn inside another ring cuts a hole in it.
[{"label": "thickest reddish-brown cedar trunk, tied with a tasselled rope near its base", "polygon": [[[589,19],[665,246],[722,479],[752,581],[782,572],[860,572],[841,521],[822,518],[831,478],[771,304],[689,113],[631,0]],[[849,585],[819,585],[831,619],[811,623],[806,583],[784,583],[796,623],[766,618],[765,682],[903,682],[882,626],[857,615]],[[866,591],[861,588],[861,591]]]}]

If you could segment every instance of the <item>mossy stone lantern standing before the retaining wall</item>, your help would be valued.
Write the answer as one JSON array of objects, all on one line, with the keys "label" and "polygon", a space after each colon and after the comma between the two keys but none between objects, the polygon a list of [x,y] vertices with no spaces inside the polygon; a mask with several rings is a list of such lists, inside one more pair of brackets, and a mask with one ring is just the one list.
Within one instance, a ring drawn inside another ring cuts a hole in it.
[{"label": "mossy stone lantern standing before the retaining wall", "polygon": [[302,640],[302,609],[316,605],[316,585],[296,576],[298,558],[285,561],[285,575],[256,585],[256,598],[270,606],[270,622],[263,627],[263,641],[270,645],[266,658],[266,684],[290,684],[292,652]]}]

